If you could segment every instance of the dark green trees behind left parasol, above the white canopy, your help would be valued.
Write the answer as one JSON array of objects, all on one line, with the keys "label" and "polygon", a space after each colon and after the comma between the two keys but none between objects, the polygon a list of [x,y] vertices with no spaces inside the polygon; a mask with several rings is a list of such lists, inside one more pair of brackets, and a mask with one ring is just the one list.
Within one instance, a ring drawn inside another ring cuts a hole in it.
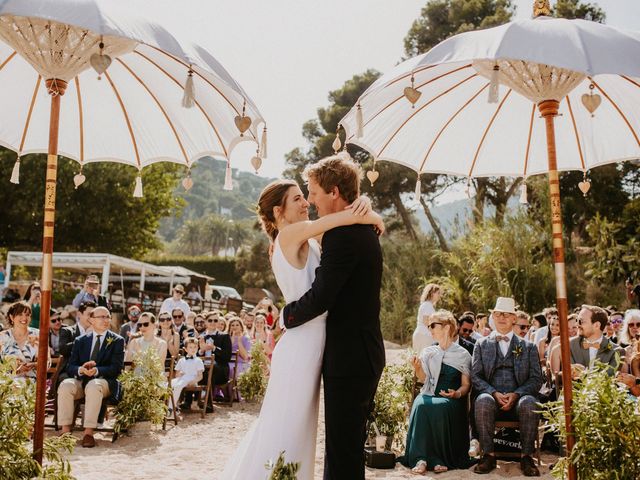
[{"label": "dark green trees behind left parasol, above the white canopy", "polygon": [[[20,184],[9,183],[15,153],[0,152],[0,245],[10,250],[42,248],[46,156],[21,159]],[[155,164],[142,172],[144,197],[133,198],[136,170],[114,163],[84,167],[86,182],[74,189],[76,162],[60,157],[56,202],[55,251],[102,252],[139,257],[159,247],[160,218],[181,202],[173,190],[182,168]]]}]

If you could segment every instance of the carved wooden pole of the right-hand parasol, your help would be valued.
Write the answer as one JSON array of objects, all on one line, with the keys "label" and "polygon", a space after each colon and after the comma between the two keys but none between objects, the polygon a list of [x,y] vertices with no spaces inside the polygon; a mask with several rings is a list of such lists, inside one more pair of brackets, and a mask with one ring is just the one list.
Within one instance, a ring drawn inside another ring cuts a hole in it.
[{"label": "carved wooden pole of the right-hand parasol", "polygon": [[[556,160],[556,136],[554,117],[558,115],[559,102],[545,100],[538,104],[547,131],[547,156],[549,160],[549,197],[551,199],[551,230],[553,238],[553,264],[556,277],[556,305],[560,317],[560,358],[562,361],[562,386],[564,390],[564,418],[567,429],[567,456],[575,444],[571,425],[572,380],[571,355],[569,352],[569,325],[567,322],[567,281],[564,264],[564,239],[562,237],[562,211],[560,208],[560,179]],[[575,465],[569,464],[569,480],[576,480]]]}]

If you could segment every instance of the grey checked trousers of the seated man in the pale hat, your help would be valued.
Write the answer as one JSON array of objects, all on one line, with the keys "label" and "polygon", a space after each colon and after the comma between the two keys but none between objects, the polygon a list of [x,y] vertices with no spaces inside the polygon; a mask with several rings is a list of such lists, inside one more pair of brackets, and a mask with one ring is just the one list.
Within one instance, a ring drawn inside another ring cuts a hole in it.
[{"label": "grey checked trousers of the seated man in the pale hat", "polygon": [[480,437],[480,447],[484,453],[493,453],[493,435],[497,417],[498,420],[518,420],[520,422],[522,454],[533,454],[538,433],[539,414],[536,413],[539,410],[538,401],[531,395],[525,395],[518,399],[517,405],[512,410],[515,411],[504,412],[500,410],[496,400],[488,393],[483,393],[476,398],[476,427]]}]

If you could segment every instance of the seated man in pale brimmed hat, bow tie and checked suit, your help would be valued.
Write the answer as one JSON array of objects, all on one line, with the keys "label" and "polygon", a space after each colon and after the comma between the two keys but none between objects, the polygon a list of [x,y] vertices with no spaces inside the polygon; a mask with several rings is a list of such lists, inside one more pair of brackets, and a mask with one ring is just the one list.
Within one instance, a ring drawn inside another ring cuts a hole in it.
[{"label": "seated man in pale brimmed hat, bow tie and checked suit", "polygon": [[542,386],[538,351],[535,345],[513,334],[513,298],[498,297],[492,315],[495,331],[478,341],[473,351],[471,381],[478,394],[475,422],[483,451],[474,472],[486,474],[496,468],[496,419],[517,420],[522,444],[520,467],[525,476],[538,477],[540,472],[531,457],[538,434],[536,395]]}]

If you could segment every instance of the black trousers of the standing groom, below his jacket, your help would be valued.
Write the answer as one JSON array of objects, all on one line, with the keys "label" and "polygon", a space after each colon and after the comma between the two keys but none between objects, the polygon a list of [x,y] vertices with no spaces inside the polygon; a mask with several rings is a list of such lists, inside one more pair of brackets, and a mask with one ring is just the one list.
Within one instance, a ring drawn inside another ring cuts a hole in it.
[{"label": "black trousers of the standing groom, below his jacket", "polygon": [[323,377],[324,480],[364,480],[367,418],[380,376]]}]

